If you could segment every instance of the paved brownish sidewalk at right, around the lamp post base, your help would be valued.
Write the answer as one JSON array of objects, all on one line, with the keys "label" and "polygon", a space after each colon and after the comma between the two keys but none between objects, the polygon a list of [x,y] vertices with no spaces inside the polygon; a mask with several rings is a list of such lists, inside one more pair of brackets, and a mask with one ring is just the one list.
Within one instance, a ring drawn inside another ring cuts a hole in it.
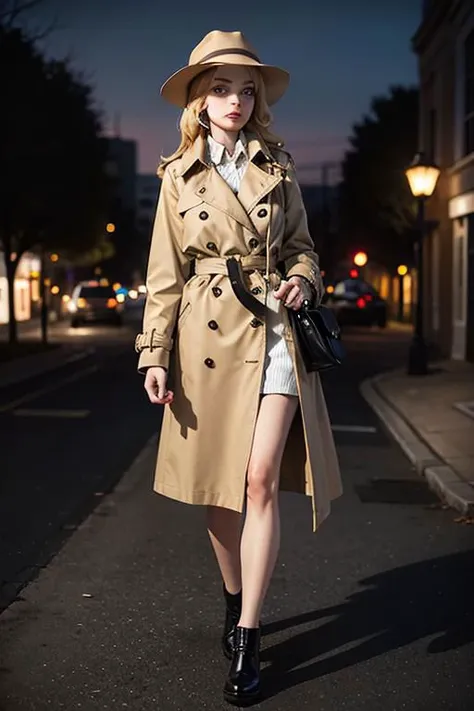
[{"label": "paved brownish sidewalk at right, around the lamp post base", "polygon": [[361,393],[430,487],[474,514],[474,364],[443,361],[426,376],[366,380]]}]

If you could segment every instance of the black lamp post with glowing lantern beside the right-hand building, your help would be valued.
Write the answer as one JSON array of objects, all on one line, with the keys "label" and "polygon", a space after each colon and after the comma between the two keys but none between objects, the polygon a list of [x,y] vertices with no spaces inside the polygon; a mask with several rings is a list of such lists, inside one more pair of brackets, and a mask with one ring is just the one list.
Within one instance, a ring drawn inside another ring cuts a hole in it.
[{"label": "black lamp post with glowing lantern beside the right-hand building", "polygon": [[417,237],[415,241],[415,265],[417,273],[416,311],[413,339],[408,354],[408,374],[426,375],[428,358],[423,333],[423,241],[425,236],[425,201],[436,187],[440,169],[430,163],[423,153],[417,153],[405,170],[410,190],[417,202]]}]

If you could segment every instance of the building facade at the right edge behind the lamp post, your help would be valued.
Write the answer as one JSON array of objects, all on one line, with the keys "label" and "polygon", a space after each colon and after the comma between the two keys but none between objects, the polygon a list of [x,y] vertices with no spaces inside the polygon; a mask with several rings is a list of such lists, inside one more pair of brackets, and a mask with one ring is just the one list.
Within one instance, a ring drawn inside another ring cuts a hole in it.
[{"label": "building facade at the right edge behind the lamp post", "polygon": [[425,327],[442,355],[474,361],[474,3],[429,0],[413,37],[420,149],[441,168],[427,202]]}]

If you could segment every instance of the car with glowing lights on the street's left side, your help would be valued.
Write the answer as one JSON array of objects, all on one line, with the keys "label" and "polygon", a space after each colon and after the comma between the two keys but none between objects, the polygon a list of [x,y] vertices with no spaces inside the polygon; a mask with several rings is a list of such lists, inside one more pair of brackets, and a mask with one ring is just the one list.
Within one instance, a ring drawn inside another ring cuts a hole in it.
[{"label": "car with glowing lights on the street's left side", "polygon": [[72,292],[68,310],[72,328],[91,322],[122,325],[123,306],[118,303],[115,291],[98,282],[80,282]]}]

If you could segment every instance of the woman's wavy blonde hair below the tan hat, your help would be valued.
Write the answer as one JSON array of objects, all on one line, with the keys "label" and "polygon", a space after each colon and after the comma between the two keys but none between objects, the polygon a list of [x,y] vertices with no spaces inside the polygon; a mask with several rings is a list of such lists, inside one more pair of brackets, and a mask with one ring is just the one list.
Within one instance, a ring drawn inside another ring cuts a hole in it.
[{"label": "woman's wavy blonde hair below the tan hat", "polygon": [[[270,131],[273,117],[268,108],[265,96],[265,84],[262,75],[257,67],[246,67],[249,70],[251,79],[255,84],[255,106],[250,119],[244,130],[255,133],[265,143],[274,146],[283,145],[281,138]],[[198,117],[204,108],[206,96],[211,88],[212,79],[216,72],[216,67],[199,74],[190,85],[189,103],[181,114],[179,128],[181,131],[181,142],[172,155],[161,156],[161,163],[158,166],[158,177],[162,178],[166,169],[172,161],[189,150],[199,135],[205,135],[206,130],[199,124]]]}]

